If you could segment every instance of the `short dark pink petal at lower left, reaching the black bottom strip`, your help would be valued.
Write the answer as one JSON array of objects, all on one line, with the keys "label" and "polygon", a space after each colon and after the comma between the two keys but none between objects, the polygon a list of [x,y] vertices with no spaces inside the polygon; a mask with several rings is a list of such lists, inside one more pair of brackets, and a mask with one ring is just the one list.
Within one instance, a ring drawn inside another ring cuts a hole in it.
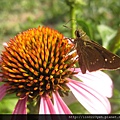
[{"label": "short dark pink petal at lower left, reaching the black bottom strip", "polygon": [[22,97],[18,100],[15,109],[13,111],[13,114],[27,114],[26,108],[27,108],[27,97]]}]

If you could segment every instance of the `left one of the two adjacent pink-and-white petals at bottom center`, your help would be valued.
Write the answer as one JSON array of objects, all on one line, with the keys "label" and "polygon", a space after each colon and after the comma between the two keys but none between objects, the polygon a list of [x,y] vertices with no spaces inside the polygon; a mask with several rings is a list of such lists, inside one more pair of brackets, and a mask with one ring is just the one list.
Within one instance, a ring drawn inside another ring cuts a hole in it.
[{"label": "left one of the two adjacent pink-and-white petals at bottom center", "polygon": [[53,103],[47,95],[41,97],[39,114],[56,114]]}]

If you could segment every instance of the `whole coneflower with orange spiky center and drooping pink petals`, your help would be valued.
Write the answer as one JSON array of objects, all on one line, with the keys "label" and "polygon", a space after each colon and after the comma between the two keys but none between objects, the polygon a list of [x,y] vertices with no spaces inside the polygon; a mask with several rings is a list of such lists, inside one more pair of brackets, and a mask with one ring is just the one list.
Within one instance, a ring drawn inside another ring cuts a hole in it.
[{"label": "whole coneflower with orange spiky center and drooping pink petals", "polygon": [[[70,54],[72,47],[62,34],[48,27],[15,36],[1,55],[0,81],[4,84],[0,86],[0,100],[6,93],[16,93],[19,101],[14,114],[26,114],[26,103],[31,100],[40,102],[40,114],[70,114],[61,97],[72,91],[90,113],[110,113],[106,96],[112,94],[111,79],[102,72],[83,75],[79,69],[71,69],[76,63],[76,52]],[[72,80],[72,76],[83,81]],[[106,86],[101,87],[109,91],[102,92],[92,79],[105,79]]]}]

